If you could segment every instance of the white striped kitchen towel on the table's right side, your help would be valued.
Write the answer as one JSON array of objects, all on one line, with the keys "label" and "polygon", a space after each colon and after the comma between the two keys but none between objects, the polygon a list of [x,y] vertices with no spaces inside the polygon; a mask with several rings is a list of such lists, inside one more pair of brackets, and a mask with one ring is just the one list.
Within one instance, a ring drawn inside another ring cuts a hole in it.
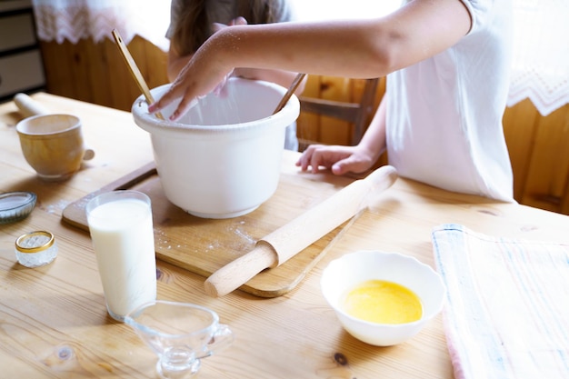
[{"label": "white striped kitchen towel on the table's right side", "polygon": [[569,244],[432,234],[456,379],[569,378]]}]

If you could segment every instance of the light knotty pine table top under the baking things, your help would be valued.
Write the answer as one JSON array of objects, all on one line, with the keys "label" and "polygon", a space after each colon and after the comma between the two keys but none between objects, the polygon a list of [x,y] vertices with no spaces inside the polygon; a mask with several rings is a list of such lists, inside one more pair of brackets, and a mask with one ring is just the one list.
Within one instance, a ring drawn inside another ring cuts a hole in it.
[{"label": "light knotty pine table top under the baking things", "polygon": [[[155,377],[155,355],[129,326],[107,316],[89,234],[62,222],[68,204],[152,161],[150,139],[129,113],[55,95],[33,97],[54,113],[78,115],[95,159],[66,182],[41,181],[25,162],[15,132],[22,115],[12,102],[0,105],[0,193],[38,196],[25,220],[0,224],[0,376]],[[296,156],[284,155],[291,172]],[[306,183],[334,181],[330,175],[297,176]],[[445,223],[569,243],[569,217],[562,214],[400,178],[283,296],[235,291],[213,298],[205,294],[204,276],[158,261],[158,298],[210,307],[234,331],[234,344],[205,359],[200,378],[452,378],[440,314],[409,342],[375,347],[344,332],[319,288],[325,265],[356,250],[396,251],[433,265],[431,230]],[[59,254],[52,264],[17,263],[15,239],[33,230],[55,234]]]}]

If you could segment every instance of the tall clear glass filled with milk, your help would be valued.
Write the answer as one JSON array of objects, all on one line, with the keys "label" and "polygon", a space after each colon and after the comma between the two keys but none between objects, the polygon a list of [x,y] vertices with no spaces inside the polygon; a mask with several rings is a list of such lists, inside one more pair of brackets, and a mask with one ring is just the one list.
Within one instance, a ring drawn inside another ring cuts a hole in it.
[{"label": "tall clear glass filled with milk", "polygon": [[100,194],[86,205],[87,224],[108,313],[118,321],[156,299],[150,198],[137,191]]}]

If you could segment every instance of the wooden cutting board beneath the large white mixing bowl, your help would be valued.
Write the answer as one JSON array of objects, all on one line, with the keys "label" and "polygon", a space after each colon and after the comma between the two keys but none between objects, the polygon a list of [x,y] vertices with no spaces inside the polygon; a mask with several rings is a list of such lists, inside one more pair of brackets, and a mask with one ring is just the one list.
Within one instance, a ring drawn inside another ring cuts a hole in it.
[{"label": "wooden cutting board beneath the large white mixing bowl", "polygon": [[[291,166],[293,169],[291,169]],[[164,194],[154,163],[145,165],[100,190],[69,204],[63,219],[88,230],[85,205],[97,194],[134,189],[150,196],[155,230],[156,256],[205,277],[248,253],[260,238],[293,220],[307,209],[352,183],[354,179],[328,174],[304,174],[286,159],[275,194],[250,214],[213,220],[195,217],[170,203]],[[286,294],[314,267],[341,233],[339,226],[299,254],[275,268],[255,275],[240,289],[261,297]]]}]

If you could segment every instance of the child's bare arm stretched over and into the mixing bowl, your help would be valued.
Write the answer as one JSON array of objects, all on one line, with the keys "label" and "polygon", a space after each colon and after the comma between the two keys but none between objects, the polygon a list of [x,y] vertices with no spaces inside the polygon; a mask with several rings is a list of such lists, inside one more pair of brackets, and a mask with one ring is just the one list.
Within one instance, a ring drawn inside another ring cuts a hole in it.
[{"label": "child's bare arm stretched over and into the mixing bowl", "polygon": [[414,0],[372,20],[278,23],[225,28],[185,65],[170,91],[150,110],[183,96],[173,118],[205,95],[234,67],[283,69],[368,78],[387,75],[454,45],[469,30],[459,0]]}]

